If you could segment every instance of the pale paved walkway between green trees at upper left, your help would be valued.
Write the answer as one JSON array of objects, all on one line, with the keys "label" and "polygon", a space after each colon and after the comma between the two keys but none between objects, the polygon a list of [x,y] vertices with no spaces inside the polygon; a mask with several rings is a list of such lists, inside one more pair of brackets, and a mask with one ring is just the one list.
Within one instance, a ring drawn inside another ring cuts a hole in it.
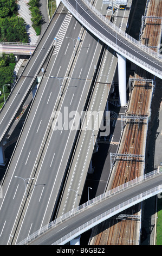
[{"label": "pale paved walkway between green trees at upper left", "polygon": [[27,34],[29,36],[29,42],[36,44],[39,36],[36,35],[34,28],[32,27],[33,22],[31,21],[31,11],[29,10],[29,0],[18,0],[18,16],[22,17],[27,23]]}]

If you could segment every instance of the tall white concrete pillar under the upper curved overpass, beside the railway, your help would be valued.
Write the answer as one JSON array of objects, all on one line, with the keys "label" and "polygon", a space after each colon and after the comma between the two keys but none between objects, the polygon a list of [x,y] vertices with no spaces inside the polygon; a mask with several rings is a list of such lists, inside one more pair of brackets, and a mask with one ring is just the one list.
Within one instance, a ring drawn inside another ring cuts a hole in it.
[{"label": "tall white concrete pillar under the upper curved overpass, beside the railway", "polygon": [[126,90],[126,58],[117,53],[118,56],[118,76],[119,76],[119,97],[120,105],[127,105],[127,90]]}]

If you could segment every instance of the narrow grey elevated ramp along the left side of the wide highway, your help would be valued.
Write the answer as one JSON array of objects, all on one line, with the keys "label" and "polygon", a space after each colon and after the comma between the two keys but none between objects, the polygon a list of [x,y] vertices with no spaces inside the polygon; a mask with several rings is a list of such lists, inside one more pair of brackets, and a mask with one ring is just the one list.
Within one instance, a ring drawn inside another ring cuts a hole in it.
[{"label": "narrow grey elevated ramp along the left side of the wide highway", "polygon": [[59,31],[60,24],[62,24],[63,20],[63,15],[57,15],[57,19],[51,19],[40,42],[35,48],[33,55],[30,57],[28,64],[25,66],[8,99],[5,101],[0,112],[1,144],[2,139],[7,134],[10,125],[14,121],[18,110],[22,107],[25,97],[27,97],[31,92],[33,83],[36,80],[44,62],[48,58],[50,50],[54,47],[54,38]]}]

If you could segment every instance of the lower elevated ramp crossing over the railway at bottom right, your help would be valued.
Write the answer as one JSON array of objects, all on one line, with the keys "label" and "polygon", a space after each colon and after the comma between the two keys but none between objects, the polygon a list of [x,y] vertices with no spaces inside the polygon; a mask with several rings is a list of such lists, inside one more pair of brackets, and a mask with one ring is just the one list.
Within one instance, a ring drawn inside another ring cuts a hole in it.
[{"label": "lower elevated ramp crossing over the railway at bottom right", "polygon": [[64,245],[76,236],[143,200],[162,192],[162,172],[155,170],[79,206],[18,245]]}]

